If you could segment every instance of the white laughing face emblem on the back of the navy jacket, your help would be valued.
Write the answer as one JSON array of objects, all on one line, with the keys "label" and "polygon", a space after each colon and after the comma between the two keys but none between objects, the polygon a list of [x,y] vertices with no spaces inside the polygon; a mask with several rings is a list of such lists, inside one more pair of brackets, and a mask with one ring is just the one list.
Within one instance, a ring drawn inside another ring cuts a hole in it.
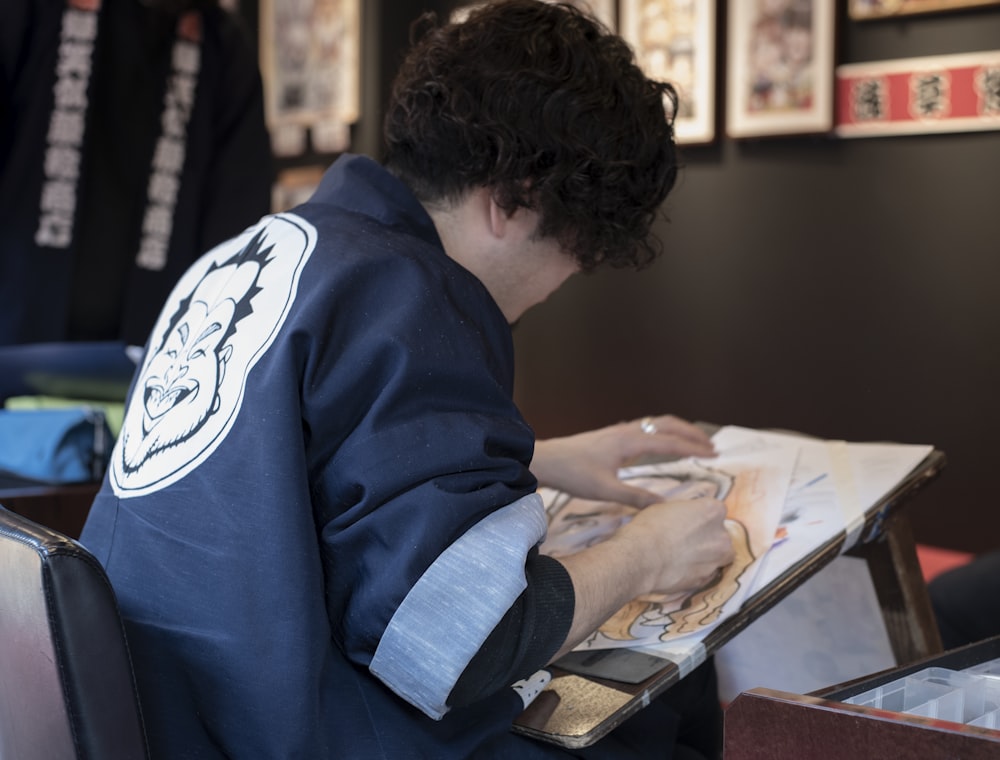
[{"label": "white laughing face emblem on the back of the navy jacket", "polygon": [[181,278],[153,327],[112,453],[117,496],[180,480],[225,440],[250,370],[288,316],[315,240],[303,219],[266,218]]}]

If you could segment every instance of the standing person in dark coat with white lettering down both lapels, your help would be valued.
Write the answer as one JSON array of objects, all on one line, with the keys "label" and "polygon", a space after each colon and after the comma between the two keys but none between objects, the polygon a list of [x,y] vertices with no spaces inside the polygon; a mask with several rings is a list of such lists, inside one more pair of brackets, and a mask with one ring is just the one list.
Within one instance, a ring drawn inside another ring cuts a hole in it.
[{"label": "standing person in dark coat with white lettering down both lapels", "polygon": [[142,345],[272,175],[253,47],[215,0],[0,3],[0,345]]}]

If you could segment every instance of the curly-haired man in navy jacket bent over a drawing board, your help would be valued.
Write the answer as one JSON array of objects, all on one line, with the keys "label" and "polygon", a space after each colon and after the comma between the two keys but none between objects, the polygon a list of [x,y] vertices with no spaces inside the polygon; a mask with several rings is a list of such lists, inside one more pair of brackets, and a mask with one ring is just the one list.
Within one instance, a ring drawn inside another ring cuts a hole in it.
[{"label": "curly-haired man in navy jacket bent over a drawing board", "polygon": [[[338,160],[181,278],[82,537],[155,756],[561,756],[510,731],[511,685],[627,600],[731,561],[720,502],[614,482],[646,450],[710,453],[692,426],[549,441],[532,463],[512,400],[509,325],[576,271],[653,255],[665,95],[580,12],[487,5],[407,57],[387,168]],[[529,464],[649,506],[541,556]]]}]

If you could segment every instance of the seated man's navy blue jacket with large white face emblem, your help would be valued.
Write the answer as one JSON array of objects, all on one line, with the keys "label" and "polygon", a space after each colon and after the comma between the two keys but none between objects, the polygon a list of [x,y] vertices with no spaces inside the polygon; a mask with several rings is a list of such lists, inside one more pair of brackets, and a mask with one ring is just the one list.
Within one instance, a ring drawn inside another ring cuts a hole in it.
[{"label": "seated man's navy blue jacket with large white face emblem", "polygon": [[[512,689],[432,720],[369,670],[394,618],[389,649],[408,627],[447,635],[421,578],[534,492],[512,386],[502,313],[368,159],[182,278],[82,535],[120,599],[154,757],[560,754],[510,733]],[[198,426],[164,430],[199,403]],[[480,634],[513,593],[488,589],[526,582],[539,529],[519,530],[519,562],[469,574],[492,600],[468,612]],[[456,667],[431,663],[435,694]]]}]

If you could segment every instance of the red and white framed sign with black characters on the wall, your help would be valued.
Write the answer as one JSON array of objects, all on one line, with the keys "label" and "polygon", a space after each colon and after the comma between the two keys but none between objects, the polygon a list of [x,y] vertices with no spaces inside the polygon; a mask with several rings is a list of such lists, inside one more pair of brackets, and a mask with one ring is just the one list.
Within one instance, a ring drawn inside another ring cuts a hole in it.
[{"label": "red and white framed sign with black characters on the wall", "polygon": [[1000,51],[837,67],[840,137],[1000,129]]}]

